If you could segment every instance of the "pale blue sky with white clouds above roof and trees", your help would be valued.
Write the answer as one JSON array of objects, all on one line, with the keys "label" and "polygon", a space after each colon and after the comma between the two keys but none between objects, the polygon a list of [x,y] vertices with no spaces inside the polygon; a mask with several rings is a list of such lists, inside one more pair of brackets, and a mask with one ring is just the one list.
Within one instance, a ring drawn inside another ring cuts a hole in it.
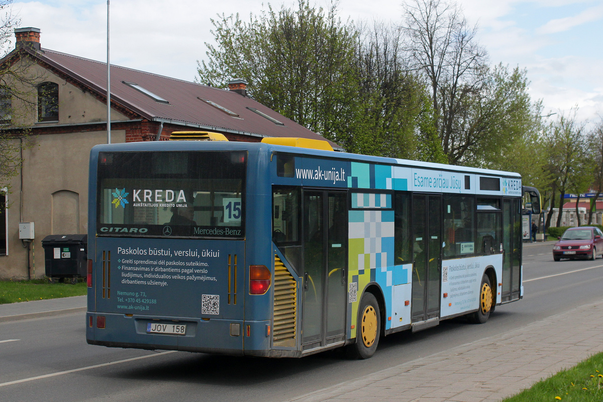
[{"label": "pale blue sky with white clouds above roof and trees", "polygon": [[[250,14],[295,7],[295,0],[109,0],[110,62],[194,81],[197,60],[215,44],[217,14]],[[340,0],[343,20],[402,22],[403,0]],[[603,117],[601,0],[457,0],[492,65],[528,72],[529,93],[543,115],[570,115],[589,125]],[[328,0],[315,0],[328,7]],[[13,0],[19,27],[40,28],[42,48],[107,61],[107,0]],[[10,45],[14,46],[14,42]],[[235,78],[235,77],[233,77]]]}]

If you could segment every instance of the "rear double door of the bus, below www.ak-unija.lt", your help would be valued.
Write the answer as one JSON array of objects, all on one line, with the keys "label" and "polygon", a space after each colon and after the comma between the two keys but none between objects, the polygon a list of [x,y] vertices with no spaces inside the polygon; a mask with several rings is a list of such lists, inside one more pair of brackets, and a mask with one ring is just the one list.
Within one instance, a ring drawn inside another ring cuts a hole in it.
[{"label": "rear double door of the bus, below www.ak-unija.lt", "polygon": [[304,203],[303,350],[345,339],[347,193],[306,190]]}]

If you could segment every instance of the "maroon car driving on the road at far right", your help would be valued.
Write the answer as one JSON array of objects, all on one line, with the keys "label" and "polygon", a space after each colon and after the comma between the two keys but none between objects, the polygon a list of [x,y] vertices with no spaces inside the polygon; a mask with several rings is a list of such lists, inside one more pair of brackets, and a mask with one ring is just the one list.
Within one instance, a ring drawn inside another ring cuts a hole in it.
[{"label": "maroon car driving on the road at far right", "polygon": [[553,246],[553,259],[587,258],[594,260],[603,255],[603,232],[597,227],[569,228]]}]

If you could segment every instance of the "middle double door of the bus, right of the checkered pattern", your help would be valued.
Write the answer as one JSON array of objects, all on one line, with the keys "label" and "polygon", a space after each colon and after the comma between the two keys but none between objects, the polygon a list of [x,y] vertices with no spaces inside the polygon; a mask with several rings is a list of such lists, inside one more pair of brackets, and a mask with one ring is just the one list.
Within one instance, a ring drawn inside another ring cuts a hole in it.
[{"label": "middle double door of the bus, right of the checkered pattern", "polygon": [[[440,272],[442,254],[442,198],[440,195],[412,196],[412,303],[411,322],[440,316]],[[428,328],[413,327],[413,330]]]}]

